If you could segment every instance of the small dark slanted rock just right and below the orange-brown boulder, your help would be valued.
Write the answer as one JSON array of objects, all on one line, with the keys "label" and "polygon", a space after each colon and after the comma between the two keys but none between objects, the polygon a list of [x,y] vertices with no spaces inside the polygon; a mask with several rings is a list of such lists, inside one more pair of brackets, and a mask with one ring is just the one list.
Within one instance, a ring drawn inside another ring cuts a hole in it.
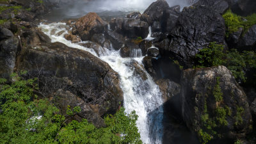
[{"label": "small dark slanted rock just right and below the orange-brown boulder", "polygon": [[106,37],[110,40],[113,48],[116,50],[120,49],[125,43],[125,38],[115,31],[106,31]]}]

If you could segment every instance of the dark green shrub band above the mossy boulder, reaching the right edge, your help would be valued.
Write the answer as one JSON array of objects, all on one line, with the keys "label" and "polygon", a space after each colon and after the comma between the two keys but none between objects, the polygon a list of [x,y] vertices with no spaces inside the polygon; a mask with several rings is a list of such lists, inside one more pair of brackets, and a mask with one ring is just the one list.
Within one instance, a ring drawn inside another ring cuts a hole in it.
[{"label": "dark green shrub band above the mossy boulder, reaching the right edge", "polygon": [[209,47],[200,50],[195,56],[195,67],[212,67],[224,65],[236,77],[237,81],[246,82],[244,70],[256,68],[256,53],[253,51],[238,52],[231,49],[223,53],[224,45],[211,43]]}]

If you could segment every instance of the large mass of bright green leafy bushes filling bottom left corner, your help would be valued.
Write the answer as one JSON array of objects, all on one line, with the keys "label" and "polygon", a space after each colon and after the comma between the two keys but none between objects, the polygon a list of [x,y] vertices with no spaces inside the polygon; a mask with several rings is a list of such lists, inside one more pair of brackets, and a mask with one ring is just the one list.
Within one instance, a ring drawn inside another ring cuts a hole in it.
[{"label": "large mass of bright green leafy bushes filling bottom left corner", "polygon": [[[102,128],[85,119],[66,124],[59,109],[34,94],[38,89],[35,79],[12,77],[12,84],[0,79],[0,143],[142,143],[134,111],[127,115],[121,108],[114,116],[106,116]],[[68,106],[67,118],[79,111],[79,107]]]}]

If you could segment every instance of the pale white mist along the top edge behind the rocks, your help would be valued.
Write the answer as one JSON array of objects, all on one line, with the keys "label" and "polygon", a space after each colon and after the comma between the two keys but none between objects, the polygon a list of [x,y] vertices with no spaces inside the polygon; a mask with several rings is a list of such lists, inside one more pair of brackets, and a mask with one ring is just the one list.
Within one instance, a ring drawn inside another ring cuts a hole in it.
[{"label": "pale white mist along the top edge behind the rocks", "polygon": [[[56,1],[56,0],[48,0]],[[61,0],[60,0],[61,1]],[[156,0],[62,0],[64,4],[60,4],[60,8],[49,13],[47,20],[57,21],[70,18],[78,18],[89,12],[97,12],[100,16],[114,13],[114,17],[124,16],[128,12],[143,13],[151,3]],[[189,6],[189,1],[195,0],[167,0],[169,6],[180,5],[181,8]],[[68,3],[69,2],[69,3]],[[108,11],[108,12],[107,12]],[[121,13],[123,12],[123,13]],[[126,13],[125,13],[126,12]]]}]

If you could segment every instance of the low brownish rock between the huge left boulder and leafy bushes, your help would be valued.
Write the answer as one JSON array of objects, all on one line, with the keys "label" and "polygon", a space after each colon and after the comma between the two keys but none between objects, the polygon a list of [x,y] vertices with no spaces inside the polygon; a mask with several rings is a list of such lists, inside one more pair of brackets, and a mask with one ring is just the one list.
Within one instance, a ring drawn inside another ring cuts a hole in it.
[{"label": "low brownish rock between the huge left boulder and leafy bushes", "polygon": [[84,100],[79,97],[76,97],[73,93],[64,90],[58,90],[54,93],[54,104],[60,109],[62,115],[66,115],[67,108],[73,109],[76,106],[81,108],[79,113],[76,113],[76,116],[72,116],[72,119],[81,121],[82,118],[86,118],[88,122],[95,125],[95,127],[105,127],[103,118],[93,111],[90,104],[86,104]]}]

